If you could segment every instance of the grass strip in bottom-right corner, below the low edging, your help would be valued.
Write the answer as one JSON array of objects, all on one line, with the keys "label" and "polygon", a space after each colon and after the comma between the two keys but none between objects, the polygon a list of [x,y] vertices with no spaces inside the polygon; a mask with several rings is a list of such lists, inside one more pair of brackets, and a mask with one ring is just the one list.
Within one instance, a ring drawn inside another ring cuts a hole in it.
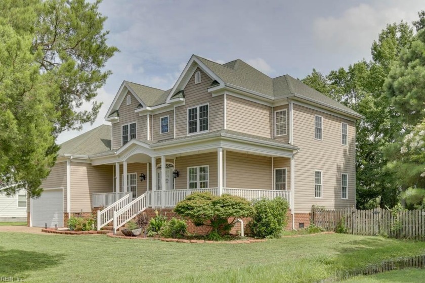
[{"label": "grass strip in bottom-right corner, below the low edging", "polygon": [[344,282],[354,283],[399,283],[399,282],[409,282],[409,283],[422,283],[423,278],[425,277],[425,269],[403,269],[403,270],[393,270],[385,273],[378,273],[375,275],[367,276],[356,276],[346,280]]}]

